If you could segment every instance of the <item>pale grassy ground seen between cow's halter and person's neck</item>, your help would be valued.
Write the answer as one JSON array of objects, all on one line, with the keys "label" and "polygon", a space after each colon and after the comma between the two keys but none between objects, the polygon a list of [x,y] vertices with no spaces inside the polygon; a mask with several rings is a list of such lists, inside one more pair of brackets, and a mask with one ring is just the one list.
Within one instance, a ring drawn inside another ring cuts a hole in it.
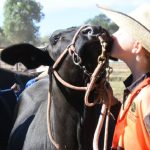
[{"label": "pale grassy ground seen between cow's halter and person's neck", "polygon": [[124,90],[123,81],[130,75],[130,70],[123,62],[110,62],[113,73],[110,75],[110,84],[112,86],[115,97],[122,101]]}]

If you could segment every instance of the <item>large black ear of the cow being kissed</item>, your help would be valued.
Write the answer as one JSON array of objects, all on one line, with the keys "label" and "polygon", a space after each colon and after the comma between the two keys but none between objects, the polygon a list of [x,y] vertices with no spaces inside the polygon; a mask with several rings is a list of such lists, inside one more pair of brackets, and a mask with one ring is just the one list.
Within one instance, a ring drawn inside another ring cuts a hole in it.
[{"label": "large black ear of the cow being kissed", "polygon": [[10,65],[21,62],[28,69],[35,69],[40,65],[51,66],[54,63],[48,51],[25,43],[5,48],[1,52],[1,59]]}]

